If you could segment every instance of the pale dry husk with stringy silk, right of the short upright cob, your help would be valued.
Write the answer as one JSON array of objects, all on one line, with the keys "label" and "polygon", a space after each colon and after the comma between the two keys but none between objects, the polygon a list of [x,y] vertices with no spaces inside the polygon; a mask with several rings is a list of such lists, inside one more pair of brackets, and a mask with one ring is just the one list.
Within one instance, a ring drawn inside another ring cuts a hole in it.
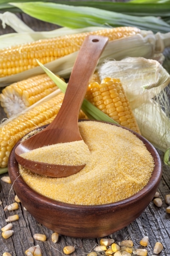
[{"label": "pale dry husk with stringy silk, right of the short upright cob", "polygon": [[155,60],[125,58],[106,61],[100,79],[119,77],[143,137],[165,152],[170,147],[170,104],[166,87],[170,75]]}]

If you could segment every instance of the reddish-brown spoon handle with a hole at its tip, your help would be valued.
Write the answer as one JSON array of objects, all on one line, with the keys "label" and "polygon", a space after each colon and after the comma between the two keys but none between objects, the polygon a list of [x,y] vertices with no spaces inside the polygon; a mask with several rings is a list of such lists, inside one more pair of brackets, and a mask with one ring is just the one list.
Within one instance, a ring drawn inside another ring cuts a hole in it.
[{"label": "reddish-brown spoon handle with a hole at its tip", "polygon": [[[55,121],[57,125],[60,123],[61,126],[62,123],[65,126],[66,122],[68,125],[77,122],[89,81],[107,44],[108,37],[99,35],[89,35],[83,41],[68,81],[62,106],[56,119],[51,123],[54,127]],[[67,116],[65,121],[62,121],[63,116]]]}]

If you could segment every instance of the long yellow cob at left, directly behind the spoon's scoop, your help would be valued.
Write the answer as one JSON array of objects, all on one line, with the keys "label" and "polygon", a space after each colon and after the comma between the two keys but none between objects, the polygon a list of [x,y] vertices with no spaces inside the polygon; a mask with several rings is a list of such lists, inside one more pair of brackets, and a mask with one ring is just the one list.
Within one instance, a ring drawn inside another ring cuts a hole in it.
[{"label": "long yellow cob at left, directly behind the spoon's scoop", "polygon": [[[51,123],[62,104],[64,94],[50,99],[47,102],[38,105],[30,111],[21,114],[0,126],[0,167],[4,168],[8,165],[8,157],[11,149],[29,131],[37,127]],[[79,118],[85,118],[84,113],[80,111]]]}]

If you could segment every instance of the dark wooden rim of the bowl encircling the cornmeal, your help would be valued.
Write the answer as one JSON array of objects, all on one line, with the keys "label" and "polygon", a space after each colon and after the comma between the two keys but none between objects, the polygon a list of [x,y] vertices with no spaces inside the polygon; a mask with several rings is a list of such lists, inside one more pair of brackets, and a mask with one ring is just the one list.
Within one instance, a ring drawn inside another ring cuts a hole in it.
[{"label": "dark wooden rim of the bowl encircling the cornmeal", "polygon": [[[82,121],[104,122],[104,121],[99,121],[99,120],[79,119],[79,122],[82,122]],[[110,123],[110,122],[104,122],[104,123],[116,125],[116,124]],[[36,131],[37,129],[45,128],[46,126],[47,125],[43,125],[41,127],[35,128],[33,131]],[[153,156],[155,166],[153,168],[153,172],[150,177],[150,180],[141,190],[139,190],[139,192],[135,193],[134,195],[131,195],[130,197],[122,199],[120,201],[116,201],[116,202],[112,202],[112,203],[108,203],[108,204],[95,204],[95,205],[69,204],[69,203],[65,203],[62,201],[57,201],[57,200],[48,198],[45,195],[41,195],[34,189],[31,189],[31,187],[29,187],[27,185],[27,183],[23,180],[22,176],[19,175],[20,172],[19,172],[17,160],[15,159],[14,150],[17,147],[17,145],[20,143],[22,138],[14,145],[14,147],[12,148],[11,153],[9,155],[9,159],[8,159],[8,172],[9,172],[9,176],[11,176],[12,183],[17,183],[17,186],[18,186],[18,184],[21,184],[22,186],[24,186],[26,193],[31,191],[31,193],[32,193],[32,194],[30,193],[31,195],[35,194],[36,198],[39,198],[39,200],[42,200],[46,204],[54,205],[54,207],[64,207],[65,209],[82,209],[82,210],[83,209],[93,209],[93,210],[96,209],[98,211],[99,209],[106,208],[106,207],[108,209],[117,207],[117,206],[125,207],[126,204],[130,205],[130,203],[133,204],[134,201],[142,200],[142,198],[144,198],[148,193],[150,193],[151,190],[153,190],[155,188],[155,186],[159,186],[159,183],[161,180],[161,175],[162,175],[162,163],[161,163],[160,156],[159,156],[156,148],[148,140],[146,140],[144,137],[142,137],[142,135],[137,134],[135,131],[132,131],[132,130],[122,127],[120,125],[116,125],[116,126],[119,126],[123,129],[126,129],[126,130],[132,132],[133,134],[135,134],[140,140],[142,140],[144,145],[147,147],[147,150],[150,149],[149,151],[152,151],[152,156]],[[28,132],[28,134],[29,133],[30,132]]]}]

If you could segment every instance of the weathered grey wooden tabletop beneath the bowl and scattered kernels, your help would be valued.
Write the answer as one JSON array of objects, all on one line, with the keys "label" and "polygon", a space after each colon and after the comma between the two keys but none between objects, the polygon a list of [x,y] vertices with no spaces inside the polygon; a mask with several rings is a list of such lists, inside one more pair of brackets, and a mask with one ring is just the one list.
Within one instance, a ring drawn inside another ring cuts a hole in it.
[{"label": "weathered grey wooden tabletop beneath the bowl and scattered kernels", "polygon": [[[19,16],[35,31],[53,30],[58,28],[56,25],[30,18],[28,15],[19,14]],[[0,35],[11,32],[14,31],[10,27],[7,26],[6,29],[3,29],[0,24]],[[166,50],[165,55],[167,58],[170,58],[170,49]],[[166,61],[164,64],[166,65]],[[170,67],[167,68],[170,69]],[[0,108],[0,120],[5,117],[6,115],[3,112],[3,108]],[[159,154],[162,158],[163,154],[161,151],[159,151]],[[7,224],[6,219],[8,218],[8,215],[18,214],[20,218],[13,222],[14,234],[11,237],[4,239],[3,236],[0,235],[0,255],[8,252],[11,253],[12,256],[23,256],[29,247],[39,244],[42,250],[42,256],[65,255],[65,253],[63,253],[63,248],[67,245],[75,247],[75,251],[71,253],[72,256],[83,256],[93,251],[97,244],[100,244],[100,239],[74,239],[67,236],[59,236],[58,242],[53,243],[51,241],[51,234],[53,231],[48,230],[46,227],[42,226],[42,224],[38,223],[29,212],[24,210],[22,204],[19,204],[19,209],[14,210],[13,213],[4,211],[6,205],[14,202],[15,196],[11,184],[1,180],[4,176],[8,176],[8,173],[0,175],[0,201],[2,201],[2,204],[0,205],[0,228]],[[154,255],[153,247],[156,242],[161,242],[164,247],[159,255],[170,255],[170,214],[166,212],[168,205],[165,202],[165,195],[170,194],[170,167],[165,166],[164,164],[163,175],[158,192],[159,198],[161,198],[163,202],[161,207],[157,207],[152,201],[147,209],[145,209],[133,223],[105,238],[113,238],[116,242],[131,239],[134,247],[143,248],[140,246],[139,241],[144,236],[148,236],[148,256]],[[103,216],[103,218],[105,218],[105,216]],[[45,242],[35,240],[34,234],[36,233],[45,234],[47,240]]]}]

